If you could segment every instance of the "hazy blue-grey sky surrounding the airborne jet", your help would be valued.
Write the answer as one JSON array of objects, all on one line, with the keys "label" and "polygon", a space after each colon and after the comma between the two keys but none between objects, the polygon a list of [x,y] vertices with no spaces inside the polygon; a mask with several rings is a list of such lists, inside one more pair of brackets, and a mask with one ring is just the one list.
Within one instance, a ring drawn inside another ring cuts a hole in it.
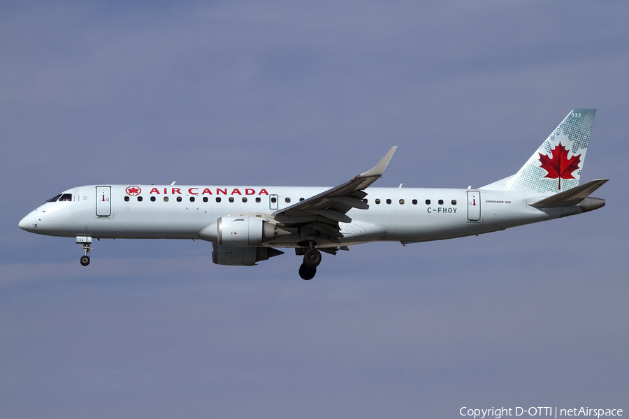
[{"label": "hazy blue-grey sky surrounding the airborne jet", "polygon": [[[0,416],[455,418],[629,409],[629,3],[0,6]],[[596,212],[212,265],[205,242],[17,228],[82,184],[377,186],[514,173],[598,108]]]}]

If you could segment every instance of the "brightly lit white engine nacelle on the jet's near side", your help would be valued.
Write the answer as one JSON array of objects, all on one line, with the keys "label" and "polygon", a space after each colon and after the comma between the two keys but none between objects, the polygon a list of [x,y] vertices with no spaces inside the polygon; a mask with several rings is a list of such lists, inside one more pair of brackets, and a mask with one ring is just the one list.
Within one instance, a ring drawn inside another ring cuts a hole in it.
[{"label": "brightly lit white engine nacelle on the jet's near side", "polygon": [[216,226],[218,242],[225,246],[259,246],[275,237],[273,224],[256,216],[222,216]]}]

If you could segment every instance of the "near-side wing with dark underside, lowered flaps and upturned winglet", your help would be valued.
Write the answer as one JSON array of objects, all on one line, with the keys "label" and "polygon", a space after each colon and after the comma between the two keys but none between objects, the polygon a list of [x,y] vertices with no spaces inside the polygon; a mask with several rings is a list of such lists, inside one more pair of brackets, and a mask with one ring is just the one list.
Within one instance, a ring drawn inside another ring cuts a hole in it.
[{"label": "near-side wing with dark underside, lowered flaps and upturned winglet", "polygon": [[328,189],[295,205],[273,213],[273,219],[287,227],[299,228],[301,241],[312,242],[317,239],[339,243],[342,233],[339,221],[350,223],[347,212],[352,208],[367,210],[369,205],[363,202],[367,196],[364,191],[384,173],[398,146],[393,146],[375,168],[354,177],[349,182]]}]

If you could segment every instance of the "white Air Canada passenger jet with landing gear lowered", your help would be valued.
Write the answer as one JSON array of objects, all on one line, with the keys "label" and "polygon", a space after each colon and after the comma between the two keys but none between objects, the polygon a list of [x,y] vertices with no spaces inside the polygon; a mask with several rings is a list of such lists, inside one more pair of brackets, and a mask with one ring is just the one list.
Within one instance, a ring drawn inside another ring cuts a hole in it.
[{"label": "white Air Canada passenger jet with landing gear lowered", "polygon": [[609,179],[579,185],[595,109],[575,109],[515,175],[478,189],[370,187],[391,161],[334,188],[110,185],[68,189],[20,221],[23,230],[75,237],[89,265],[92,238],[212,242],[219,265],[256,265],[293,248],[312,279],[321,252],[354,244],[403,245],[479,235],[597,210],[590,195]]}]

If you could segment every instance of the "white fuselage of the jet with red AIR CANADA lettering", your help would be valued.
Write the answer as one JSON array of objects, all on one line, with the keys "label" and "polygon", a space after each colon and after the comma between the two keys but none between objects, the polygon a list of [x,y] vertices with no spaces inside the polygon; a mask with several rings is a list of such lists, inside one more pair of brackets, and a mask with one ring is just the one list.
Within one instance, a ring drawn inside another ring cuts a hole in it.
[{"label": "white fuselage of the jet with red AIR CANADA lettering", "polygon": [[[198,239],[217,242],[217,219],[230,214],[270,214],[326,191],[291,186],[92,185],[64,191],[71,200],[45,203],[20,221],[24,230],[62,237]],[[528,203],[549,194],[517,191],[377,188],[368,210],[347,212],[340,244],[379,240],[403,243],[442,240],[579,214],[578,205],[537,209]],[[69,198],[68,198],[69,199]],[[286,234],[263,247],[298,247]],[[317,242],[317,247],[338,245]]]}]

